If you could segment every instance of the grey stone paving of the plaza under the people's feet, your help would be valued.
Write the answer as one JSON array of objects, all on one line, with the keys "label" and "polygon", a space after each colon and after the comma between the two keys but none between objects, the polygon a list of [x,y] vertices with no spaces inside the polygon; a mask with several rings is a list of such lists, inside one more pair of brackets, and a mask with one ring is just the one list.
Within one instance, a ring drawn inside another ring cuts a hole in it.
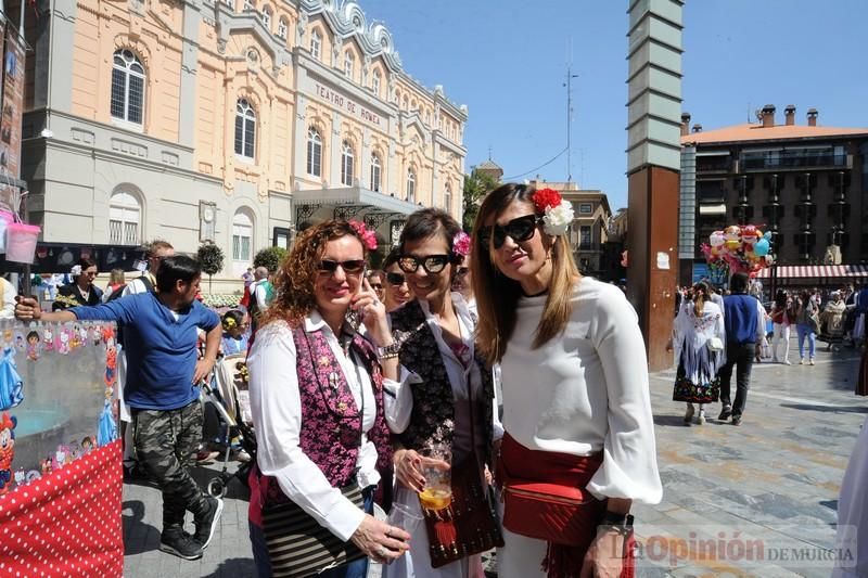
[{"label": "grey stone paving of the plaza under the people's feet", "polygon": [[[813,367],[754,365],[739,427],[714,420],[718,403],[706,424],[685,426],[684,404],[671,401],[674,373],[652,375],[664,494],[658,505],[634,508],[638,576],[829,576],[838,491],[868,413],[868,400],[853,395],[857,361],[852,349],[829,354],[820,345]],[[215,468],[200,467],[200,481]],[[157,551],[157,490],[125,485],[124,575],[255,576],[242,490],[231,488],[204,557],[186,562]]]}]

